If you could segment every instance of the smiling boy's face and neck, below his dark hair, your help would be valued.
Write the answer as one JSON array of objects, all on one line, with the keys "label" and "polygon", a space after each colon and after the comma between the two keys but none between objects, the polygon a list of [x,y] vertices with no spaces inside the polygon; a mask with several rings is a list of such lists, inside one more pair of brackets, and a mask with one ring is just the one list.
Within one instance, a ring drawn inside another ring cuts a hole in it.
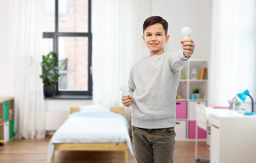
[{"label": "smiling boy's face and neck, below his dark hair", "polygon": [[164,46],[169,40],[169,37],[170,35],[165,36],[165,30],[160,23],[148,26],[142,36],[144,43],[150,50],[150,56],[162,54],[165,51]]}]

